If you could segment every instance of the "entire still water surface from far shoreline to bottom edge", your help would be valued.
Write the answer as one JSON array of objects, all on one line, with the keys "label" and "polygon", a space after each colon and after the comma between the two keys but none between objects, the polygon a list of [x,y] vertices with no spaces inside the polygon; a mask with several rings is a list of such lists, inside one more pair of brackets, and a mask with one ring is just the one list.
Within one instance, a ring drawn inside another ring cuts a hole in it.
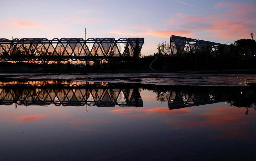
[{"label": "entire still water surface from far shoreline to bottom edge", "polygon": [[254,75],[0,78],[0,160],[256,159]]}]

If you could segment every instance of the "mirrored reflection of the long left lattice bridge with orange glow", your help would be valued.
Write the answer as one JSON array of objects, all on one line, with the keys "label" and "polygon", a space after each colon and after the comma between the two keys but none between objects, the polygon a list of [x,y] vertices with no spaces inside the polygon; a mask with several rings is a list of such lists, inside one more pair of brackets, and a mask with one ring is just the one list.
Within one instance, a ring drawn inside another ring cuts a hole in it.
[{"label": "mirrored reflection of the long left lattice bridge with orange glow", "polygon": [[0,84],[1,105],[143,106],[140,89],[124,84],[48,80]]}]

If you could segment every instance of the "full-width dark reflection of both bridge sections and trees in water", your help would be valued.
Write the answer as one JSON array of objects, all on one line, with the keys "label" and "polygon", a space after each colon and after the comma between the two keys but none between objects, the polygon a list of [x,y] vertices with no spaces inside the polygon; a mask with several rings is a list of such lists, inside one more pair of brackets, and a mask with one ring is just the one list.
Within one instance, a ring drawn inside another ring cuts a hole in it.
[{"label": "full-width dark reflection of both bridge sections and trees in water", "polygon": [[80,80],[34,80],[0,82],[0,105],[50,105],[142,107],[140,90],[153,90],[156,100],[168,102],[169,110],[228,102],[256,109],[256,88],[227,86],[161,86],[85,82]]}]

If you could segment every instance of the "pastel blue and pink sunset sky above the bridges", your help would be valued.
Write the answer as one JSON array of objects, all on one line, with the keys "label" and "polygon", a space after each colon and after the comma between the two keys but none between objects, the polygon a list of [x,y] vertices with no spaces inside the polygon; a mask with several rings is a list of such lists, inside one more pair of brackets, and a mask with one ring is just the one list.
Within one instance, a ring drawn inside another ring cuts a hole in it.
[{"label": "pastel blue and pink sunset sky above the bridges", "polygon": [[[0,38],[143,37],[142,55],[171,35],[223,44],[256,33],[255,0],[13,1],[0,3]],[[256,37],[256,35],[255,35]]]}]

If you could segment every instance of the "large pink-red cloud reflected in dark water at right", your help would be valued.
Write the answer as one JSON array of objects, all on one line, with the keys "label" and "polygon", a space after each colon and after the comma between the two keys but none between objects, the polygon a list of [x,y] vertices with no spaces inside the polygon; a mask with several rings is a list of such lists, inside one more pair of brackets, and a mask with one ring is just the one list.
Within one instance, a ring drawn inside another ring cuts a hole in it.
[{"label": "large pink-red cloud reflected in dark water at right", "polygon": [[219,131],[219,134],[209,134],[212,139],[247,138],[248,133],[244,129],[250,128],[250,123],[244,121],[247,117],[241,114],[241,109],[227,107],[207,108],[200,114],[182,115],[177,118],[167,118],[166,123],[173,129],[202,128]]}]

